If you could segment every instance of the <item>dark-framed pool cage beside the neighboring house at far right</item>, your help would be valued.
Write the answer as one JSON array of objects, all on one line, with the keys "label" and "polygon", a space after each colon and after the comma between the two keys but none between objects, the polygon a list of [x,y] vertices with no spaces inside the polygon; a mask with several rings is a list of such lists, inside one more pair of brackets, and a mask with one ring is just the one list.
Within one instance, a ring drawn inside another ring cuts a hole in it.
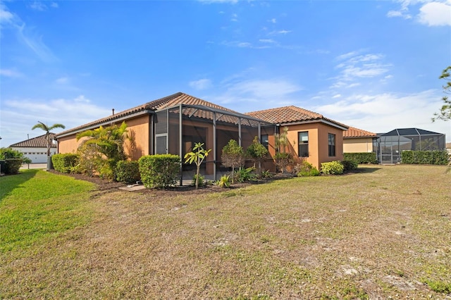
[{"label": "dark-framed pool cage beside the neighboring house at far right", "polygon": [[405,150],[445,150],[445,135],[418,128],[395,129],[378,135],[373,141],[373,149],[378,163],[400,163],[401,153]]}]

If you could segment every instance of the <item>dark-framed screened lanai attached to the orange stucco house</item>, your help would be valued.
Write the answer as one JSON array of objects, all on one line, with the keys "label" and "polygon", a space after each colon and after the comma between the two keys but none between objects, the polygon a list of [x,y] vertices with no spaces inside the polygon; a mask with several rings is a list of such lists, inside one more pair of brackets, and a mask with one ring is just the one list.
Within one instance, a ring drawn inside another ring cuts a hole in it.
[{"label": "dark-framed screened lanai attached to the orange stucco house", "polygon": [[[155,154],[176,154],[181,158],[192,151],[194,144],[204,143],[211,149],[202,163],[201,173],[209,180],[217,180],[226,169],[221,162],[222,149],[230,139],[235,139],[244,149],[254,137],[268,146],[268,137],[274,135],[275,125],[249,115],[203,105],[178,104],[155,111]],[[194,164],[180,166],[180,185],[195,174]]]}]

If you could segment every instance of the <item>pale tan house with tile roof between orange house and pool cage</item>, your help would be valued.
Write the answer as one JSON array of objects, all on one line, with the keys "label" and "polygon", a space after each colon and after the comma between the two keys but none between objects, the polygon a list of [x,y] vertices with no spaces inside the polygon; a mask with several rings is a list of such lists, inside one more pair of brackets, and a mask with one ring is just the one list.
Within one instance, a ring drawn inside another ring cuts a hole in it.
[{"label": "pale tan house with tile roof between orange house and pool cage", "polygon": [[347,131],[343,132],[343,152],[373,152],[373,141],[377,138],[374,132],[349,127]]}]

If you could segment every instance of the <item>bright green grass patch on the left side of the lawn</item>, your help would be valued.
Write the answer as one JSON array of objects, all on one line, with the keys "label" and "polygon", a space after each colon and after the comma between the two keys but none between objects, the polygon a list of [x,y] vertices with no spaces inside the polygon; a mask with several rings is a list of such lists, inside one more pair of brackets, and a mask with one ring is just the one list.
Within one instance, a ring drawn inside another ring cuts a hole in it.
[{"label": "bright green grass patch on the left side of the lawn", "polygon": [[83,206],[93,185],[42,170],[0,177],[0,254],[20,254],[91,217]]}]

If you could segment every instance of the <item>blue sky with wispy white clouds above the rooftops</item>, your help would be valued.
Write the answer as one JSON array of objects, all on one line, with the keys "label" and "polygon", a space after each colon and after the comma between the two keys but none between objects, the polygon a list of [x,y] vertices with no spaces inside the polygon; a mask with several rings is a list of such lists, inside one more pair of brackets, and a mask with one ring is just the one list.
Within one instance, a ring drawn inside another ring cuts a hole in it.
[{"label": "blue sky with wispy white clouds above the rooftops", "polygon": [[0,43],[0,146],[175,92],[451,142],[450,0],[1,1]]}]

